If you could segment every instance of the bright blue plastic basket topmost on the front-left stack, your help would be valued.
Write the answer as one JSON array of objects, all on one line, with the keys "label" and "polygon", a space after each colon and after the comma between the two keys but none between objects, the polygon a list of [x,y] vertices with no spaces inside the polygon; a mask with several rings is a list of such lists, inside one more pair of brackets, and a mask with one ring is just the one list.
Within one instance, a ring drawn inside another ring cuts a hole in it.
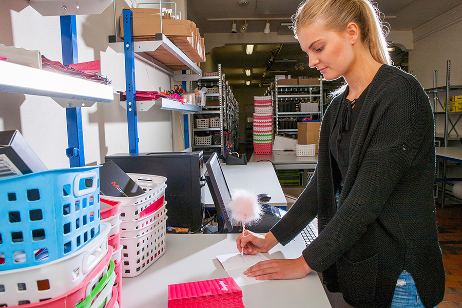
[{"label": "bright blue plastic basket topmost on the front-left stack", "polygon": [[100,232],[99,167],[0,180],[0,271],[54,261]]}]

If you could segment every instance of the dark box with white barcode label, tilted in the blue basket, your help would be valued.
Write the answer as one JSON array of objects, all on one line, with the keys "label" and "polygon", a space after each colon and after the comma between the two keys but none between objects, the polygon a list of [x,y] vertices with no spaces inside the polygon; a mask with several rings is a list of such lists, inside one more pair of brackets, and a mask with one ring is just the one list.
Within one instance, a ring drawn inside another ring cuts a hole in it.
[{"label": "dark box with white barcode label, tilted in the blue basket", "polygon": [[0,131],[0,178],[48,170],[18,130]]}]

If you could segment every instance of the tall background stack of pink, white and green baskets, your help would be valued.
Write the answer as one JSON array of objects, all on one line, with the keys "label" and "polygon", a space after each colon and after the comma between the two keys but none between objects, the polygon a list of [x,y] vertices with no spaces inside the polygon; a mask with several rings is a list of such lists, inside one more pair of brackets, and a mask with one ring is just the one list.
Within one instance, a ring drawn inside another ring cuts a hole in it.
[{"label": "tall background stack of pink, white and green baskets", "polygon": [[254,104],[254,153],[271,154],[273,147],[273,105],[271,96],[254,97]]}]

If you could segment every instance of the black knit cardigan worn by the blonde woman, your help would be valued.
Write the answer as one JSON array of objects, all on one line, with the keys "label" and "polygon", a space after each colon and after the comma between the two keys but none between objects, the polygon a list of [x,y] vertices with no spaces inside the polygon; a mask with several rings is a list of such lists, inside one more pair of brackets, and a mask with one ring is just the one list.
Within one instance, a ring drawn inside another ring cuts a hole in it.
[{"label": "black knit cardigan worn by the blonde woman", "polygon": [[[344,95],[344,94],[343,94]],[[399,274],[415,280],[425,307],[444,296],[436,229],[434,124],[418,81],[382,65],[370,84],[340,187],[329,139],[342,95],[325,112],[310,183],[272,229],[285,245],[318,216],[319,236],[303,251],[331,292],[354,307],[390,307]],[[338,204],[338,206],[337,206]]]}]

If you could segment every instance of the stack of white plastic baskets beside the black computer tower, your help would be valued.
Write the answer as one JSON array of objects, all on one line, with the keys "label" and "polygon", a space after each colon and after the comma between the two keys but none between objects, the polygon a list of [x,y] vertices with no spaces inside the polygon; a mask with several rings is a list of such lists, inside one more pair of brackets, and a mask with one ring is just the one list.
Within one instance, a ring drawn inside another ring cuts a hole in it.
[{"label": "stack of white plastic baskets beside the black computer tower", "polygon": [[127,174],[145,192],[134,197],[109,197],[120,202],[122,277],[135,277],[165,253],[167,210],[165,182],[161,176]]}]

